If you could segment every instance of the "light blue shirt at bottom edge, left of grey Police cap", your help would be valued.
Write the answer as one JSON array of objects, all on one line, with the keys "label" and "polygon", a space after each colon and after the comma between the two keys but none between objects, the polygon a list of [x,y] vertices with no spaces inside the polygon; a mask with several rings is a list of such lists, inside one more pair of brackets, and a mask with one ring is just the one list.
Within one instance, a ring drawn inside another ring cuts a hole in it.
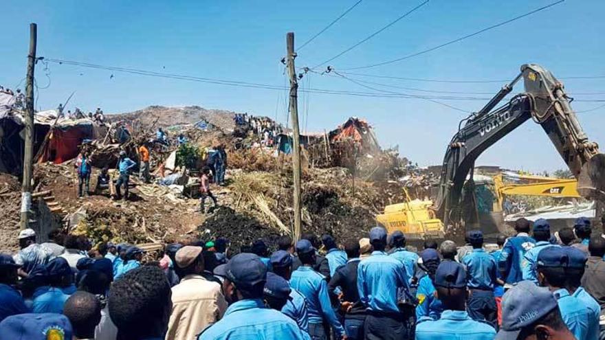
[{"label": "light blue shirt at bottom edge, left of grey Police cap", "polygon": [[487,323],[474,321],[463,310],[444,310],[441,319],[420,319],[416,340],[493,340],[496,330]]}]

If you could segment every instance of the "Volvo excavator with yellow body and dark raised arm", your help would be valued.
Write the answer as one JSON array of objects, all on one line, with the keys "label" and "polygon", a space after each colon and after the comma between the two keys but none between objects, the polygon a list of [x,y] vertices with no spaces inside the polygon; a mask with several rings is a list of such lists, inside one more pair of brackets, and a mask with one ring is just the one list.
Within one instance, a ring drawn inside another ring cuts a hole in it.
[{"label": "Volvo excavator with yellow body and dark raised arm", "polygon": [[[525,91],[496,108],[521,79]],[[443,158],[436,199],[412,201],[408,197],[404,203],[388,205],[384,214],[376,217],[377,224],[390,232],[401,230],[410,238],[445,236],[463,231],[467,225],[478,225],[474,195],[463,194],[474,192],[474,163],[483,151],[530,119],[542,126],[576,177],[577,193],[604,202],[605,155],[588,140],[571,109],[572,101],[550,71],[536,64],[522,65],[514,80],[481,110],[460,122]]]}]

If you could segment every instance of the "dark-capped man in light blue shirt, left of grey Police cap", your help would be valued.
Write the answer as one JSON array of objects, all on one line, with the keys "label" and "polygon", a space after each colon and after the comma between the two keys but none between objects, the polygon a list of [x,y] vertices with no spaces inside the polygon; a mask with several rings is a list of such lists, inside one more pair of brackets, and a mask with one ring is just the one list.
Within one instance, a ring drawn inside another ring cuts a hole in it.
[{"label": "dark-capped man in light blue shirt, left of grey Police cap", "polygon": [[445,310],[437,321],[430,317],[419,319],[416,326],[417,340],[494,339],[496,330],[493,326],[473,320],[466,312],[466,277],[464,267],[457,262],[444,261],[439,264],[435,273],[435,286]]}]

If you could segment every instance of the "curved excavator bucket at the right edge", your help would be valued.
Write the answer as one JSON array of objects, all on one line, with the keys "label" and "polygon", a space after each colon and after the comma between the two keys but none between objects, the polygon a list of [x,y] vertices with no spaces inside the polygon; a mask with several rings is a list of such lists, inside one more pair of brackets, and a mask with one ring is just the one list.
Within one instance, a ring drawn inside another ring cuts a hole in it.
[{"label": "curved excavator bucket at the right edge", "polygon": [[577,193],[605,202],[605,155],[599,153],[584,163],[577,177]]}]

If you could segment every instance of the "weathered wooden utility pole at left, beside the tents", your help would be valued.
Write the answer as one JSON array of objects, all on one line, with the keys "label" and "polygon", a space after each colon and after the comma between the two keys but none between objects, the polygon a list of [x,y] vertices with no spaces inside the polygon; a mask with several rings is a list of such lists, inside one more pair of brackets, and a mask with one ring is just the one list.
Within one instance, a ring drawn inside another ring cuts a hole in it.
[{"label": "weathered wooden utility pole at left, beside the tents", "polygon": [[28,54],[28,76],[25,81],[25,143],[23,151],[23,194],[21,196],[21,229],[28,228],[30,205],[32,204],[32,173],[34,168],[34,67],[36,66],[36,43],[38,26],[30,23],[30,54]]}]

